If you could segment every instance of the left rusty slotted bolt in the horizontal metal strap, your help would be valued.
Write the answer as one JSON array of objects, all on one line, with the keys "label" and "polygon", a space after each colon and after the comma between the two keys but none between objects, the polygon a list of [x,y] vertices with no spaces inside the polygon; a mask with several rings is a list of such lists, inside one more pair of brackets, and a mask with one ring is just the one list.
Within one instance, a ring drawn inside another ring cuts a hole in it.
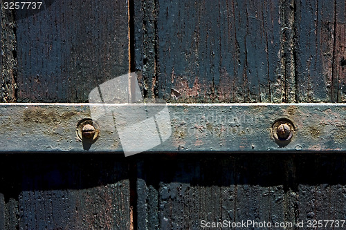
[{"label": "left rusty slotted bolt in the horizontal metal strap", "polygon": [[95,142],[95,140],[98,139],[100,129],[98,128],[98,124],[96,122],[94,122],[92,119],[86,118],[78,122],[76,132],[80,140],[86,142]]}]

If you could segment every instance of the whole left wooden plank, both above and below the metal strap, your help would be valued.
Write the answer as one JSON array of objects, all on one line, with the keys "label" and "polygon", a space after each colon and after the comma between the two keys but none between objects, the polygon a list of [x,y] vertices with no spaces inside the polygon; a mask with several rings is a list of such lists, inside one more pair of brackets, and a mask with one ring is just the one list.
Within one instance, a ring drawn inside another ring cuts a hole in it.
[{"label": "whole left wooden plank, both above and below the metal strap", "polygon": [[[129,70],[126,1],[45,3],[1,7],[1,102],[87,102]],[[0,158],[0,229],[130,229],[123,156]]]}]

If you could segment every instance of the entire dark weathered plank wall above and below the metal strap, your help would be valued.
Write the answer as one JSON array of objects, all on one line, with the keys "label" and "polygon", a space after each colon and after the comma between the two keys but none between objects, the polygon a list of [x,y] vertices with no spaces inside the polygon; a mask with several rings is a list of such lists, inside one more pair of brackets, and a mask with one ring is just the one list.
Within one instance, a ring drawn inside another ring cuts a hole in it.
[{"label": "entire dark weathered plank wall above and below the metal strap", "polygon": [[[167,102],[346,102],[345,8],[150,0],[1,10],[1,102],[86,102],[129,70],[142,71],[145,97]],[[345,219],[343,153],[1,155],[0,164],[0,229]]]}]

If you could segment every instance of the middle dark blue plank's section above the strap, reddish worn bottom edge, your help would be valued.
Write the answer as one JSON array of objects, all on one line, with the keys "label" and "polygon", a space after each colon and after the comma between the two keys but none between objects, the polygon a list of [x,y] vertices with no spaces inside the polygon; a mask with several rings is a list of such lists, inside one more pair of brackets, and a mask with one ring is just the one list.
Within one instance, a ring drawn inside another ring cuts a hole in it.
[{"label": "middle dark blue plank's section above the strap, reddish worn bottom edge", "polygon": [[140,1],[135,9],[136,68],[149,97],[293,102],[285,93],[294,97],[292,75],[282,67],[282,3]]}]

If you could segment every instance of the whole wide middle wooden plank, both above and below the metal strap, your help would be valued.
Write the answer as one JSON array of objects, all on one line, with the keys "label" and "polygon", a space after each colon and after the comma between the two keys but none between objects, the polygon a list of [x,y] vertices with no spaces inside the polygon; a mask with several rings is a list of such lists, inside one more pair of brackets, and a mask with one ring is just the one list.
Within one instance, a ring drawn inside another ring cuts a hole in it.
[{"label": "whole wide middle wooden plank, both above and below the metal strap", "polygon": [[[185,103],[294,102],[293,6],[135,1],[136,68],[143,71],[145,96]],[[287,195],[287,175],[277,168],[281,157],[168,159],[148,156],[137,164],[139,229],[200,229],[201,220],[295,221],[295,196]]]}]

